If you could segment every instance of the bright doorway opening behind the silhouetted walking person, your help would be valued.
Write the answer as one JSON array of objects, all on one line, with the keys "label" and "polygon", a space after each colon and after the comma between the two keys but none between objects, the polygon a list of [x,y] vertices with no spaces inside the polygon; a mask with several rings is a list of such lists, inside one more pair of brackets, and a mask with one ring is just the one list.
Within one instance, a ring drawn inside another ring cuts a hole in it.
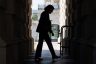
[{"label": "bright doorway opening behind the silhouetted walking person", "polygon": [[[66,0],[32,0],[32,37],[34,38],[34,51],[36,50],[39,34],[36,32],[36,28],[39,22],[40,14],[44,10],[44,7],[51,4],[55,10],[50,14],[50,20],[52,20],[52,29],[54,36],[52,36],[52,45],[55,51],[60,51],[60,28],[65,25],[66,15]],[[65,29],[64,29],[65,30]],[[63,31],[65,32],[65,31]],[[65,34],[65,33],[64,33]],[[64,35],[63,35],[64,36]],[[42,50],[48,50],[46,42],[43,43]],[[57,52],[60,55],[60,52]]]}]

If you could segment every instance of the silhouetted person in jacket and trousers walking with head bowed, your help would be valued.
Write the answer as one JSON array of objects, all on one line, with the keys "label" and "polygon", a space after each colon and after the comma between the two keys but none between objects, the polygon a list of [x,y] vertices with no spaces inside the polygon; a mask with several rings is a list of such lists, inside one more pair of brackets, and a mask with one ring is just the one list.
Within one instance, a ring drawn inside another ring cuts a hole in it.
[{"label": "silhouetted person in jacket and trousers walking with head bowed", "polygon": [[39,33],[39,42],[38,42],[36,53],[35,53],[36,61],[41,60],[43,40],[46,41],[49,47],[49,50],[52,55],[52,59],[59,58],[59,56],[55,54],[55,51],[51,43],[51,38],[49,37],[49,34],[48,34],[48,33],[51,33],[52,35],[54,35],[51,29],[51,21],[49,19],[49,14],[51,14],[53,10],[54,10],[54,7],[52,5],[48,5],[44,8],[44,11],[41,13],[39,24],[36,29],[36,32]]}]

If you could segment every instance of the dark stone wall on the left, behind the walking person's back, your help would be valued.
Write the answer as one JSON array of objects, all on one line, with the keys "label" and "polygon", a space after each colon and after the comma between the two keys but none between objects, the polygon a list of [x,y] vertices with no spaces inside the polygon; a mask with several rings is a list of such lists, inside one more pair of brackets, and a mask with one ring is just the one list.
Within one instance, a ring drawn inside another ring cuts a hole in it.
[{"label": "dark stone wall on the left, behind the walking person's back", "polygon": [[0,64],[22,64],[32,53],[28,1],[0,0]]}]

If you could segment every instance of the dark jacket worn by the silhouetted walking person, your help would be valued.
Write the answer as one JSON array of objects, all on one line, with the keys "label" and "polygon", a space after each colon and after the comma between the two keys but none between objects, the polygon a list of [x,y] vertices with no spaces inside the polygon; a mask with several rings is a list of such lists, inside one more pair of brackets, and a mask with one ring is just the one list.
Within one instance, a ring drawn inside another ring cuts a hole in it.
[{"label": "dark jacket worn by the silhouetted walking person", "polygon": [[48,33],[52,32],[51,30],[51,21],[49,19],[49,13],[44,11],[41,13],[41,17],[39,19],[39,23],[36,29],[36,32],[39,33]]}]

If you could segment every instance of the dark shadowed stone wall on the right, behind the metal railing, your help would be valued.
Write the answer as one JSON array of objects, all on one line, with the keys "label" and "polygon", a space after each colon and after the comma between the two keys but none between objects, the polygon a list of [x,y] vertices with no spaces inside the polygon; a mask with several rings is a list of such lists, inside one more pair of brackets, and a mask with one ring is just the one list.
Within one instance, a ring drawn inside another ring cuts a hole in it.
[{"label": "dark shadowed stone wall on the right, behind the metal railing", "polygon": [[72,6],[71,53],[78,64],[96,64],[96,1],[74,0]]}]

